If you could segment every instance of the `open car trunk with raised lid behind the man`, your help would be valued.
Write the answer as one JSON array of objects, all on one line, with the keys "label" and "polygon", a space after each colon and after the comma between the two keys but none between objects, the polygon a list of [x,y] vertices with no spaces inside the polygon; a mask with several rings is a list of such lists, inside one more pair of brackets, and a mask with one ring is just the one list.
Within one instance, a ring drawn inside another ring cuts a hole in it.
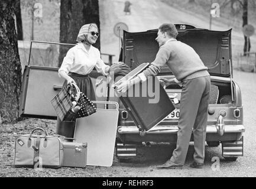
[{"label": "open car trunk with raised lid behind the man", "polygon": [[[186,29],[180,29],[181,26],[182,28],[185,26]],[[205,66],[208,67],[211,78],[215,78],[212,80],[212,84],[217,87],[212,87],[212,93],[218,92],[218,97],[215,95],[217,99],[213,99],[210,103],[229,102],[229,100],[221,101],[222,96],[228,96],[228,99],[231,98],[232,100],[231,30],[210,31],[179,24],[176,25],[176,28],[179,32],[177,40],[190,45],[199,54]],[[122,54],[119,59],[124,61],[132,70],[141,63],[153,62],[159,48],[157,41],[155,41],[157,31],[124,31]],[[167,66],[163,66],[158,77],[171,78],[174,76]],[[170,97],[173,94],[178,94],[180,100],[181,87],[177,84],[168,86],[166,92]]]}]

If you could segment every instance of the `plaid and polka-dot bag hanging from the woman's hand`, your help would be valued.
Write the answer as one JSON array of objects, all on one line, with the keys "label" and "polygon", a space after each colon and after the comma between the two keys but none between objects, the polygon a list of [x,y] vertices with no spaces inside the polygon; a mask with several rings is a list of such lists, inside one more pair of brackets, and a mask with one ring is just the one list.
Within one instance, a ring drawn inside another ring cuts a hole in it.
[{"label": "plaid and polka-dot bag hanging from the woman's hand", "polygon": [[[74,92],[72,86],[74,86],[76,92]],[[61,121],[75,120],[76,118],[89,116],[96,112],[95,105],[93,105],[85,94],[80,92],[79,87],[74,83],[72,83],[72,86],[63,87],[53,100],[51,100],[51,104]],[[72,102],[76,102],[76,106],[80,106],[78,112],[74,112]]]}]

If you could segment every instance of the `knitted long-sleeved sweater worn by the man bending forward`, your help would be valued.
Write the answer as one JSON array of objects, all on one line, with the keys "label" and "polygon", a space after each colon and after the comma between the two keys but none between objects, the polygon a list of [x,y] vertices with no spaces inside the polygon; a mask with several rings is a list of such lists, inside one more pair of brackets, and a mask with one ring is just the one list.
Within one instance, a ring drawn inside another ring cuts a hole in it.
[{"label": "knitted long-sleeved sweater worn by the man bending forward", "polygon": [[145,77],[156,76],[160,72],[160,67],[165,64],[180,82],[209,76],[208,67],[203,64],[196,51],[176,39],[168,40],[159,48],[153,63],[143,71]]}]

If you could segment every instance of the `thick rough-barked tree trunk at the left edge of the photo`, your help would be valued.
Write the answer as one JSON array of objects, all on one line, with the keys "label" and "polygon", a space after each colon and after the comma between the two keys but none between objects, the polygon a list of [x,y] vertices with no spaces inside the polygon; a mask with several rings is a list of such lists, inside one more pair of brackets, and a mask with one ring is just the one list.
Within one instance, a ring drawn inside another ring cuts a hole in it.
[{"label": "thick rough-barked tree trunk at the left edge of the photo", "polygon": [[18,118],[21,63],[15,31],[15,0],[0,1],[0,118]]}]

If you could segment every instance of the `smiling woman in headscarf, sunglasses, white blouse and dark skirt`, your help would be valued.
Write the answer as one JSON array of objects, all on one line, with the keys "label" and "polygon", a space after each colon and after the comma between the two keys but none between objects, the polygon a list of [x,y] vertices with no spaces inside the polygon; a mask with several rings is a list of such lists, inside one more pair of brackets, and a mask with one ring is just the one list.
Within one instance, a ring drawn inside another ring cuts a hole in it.
[{"label": "smiling woman in headscarf, sunglasses, white blouse and dark skirt", "polygon": [[[104,76],[109,74],[109,66],[103,63],[98,48],[92,46],[99,37],[99,30],[96,24],[86,24],[80,28],[74,47],[67,51],[63,63],[59,69],[59,76],[65,80],[63,87],[75,83],[80,91],[90,100],[96,100],[95,90],[89,73],[95,67]],[[57,118],[57,133],[73,138],[74,123],[61,122]]]}]

